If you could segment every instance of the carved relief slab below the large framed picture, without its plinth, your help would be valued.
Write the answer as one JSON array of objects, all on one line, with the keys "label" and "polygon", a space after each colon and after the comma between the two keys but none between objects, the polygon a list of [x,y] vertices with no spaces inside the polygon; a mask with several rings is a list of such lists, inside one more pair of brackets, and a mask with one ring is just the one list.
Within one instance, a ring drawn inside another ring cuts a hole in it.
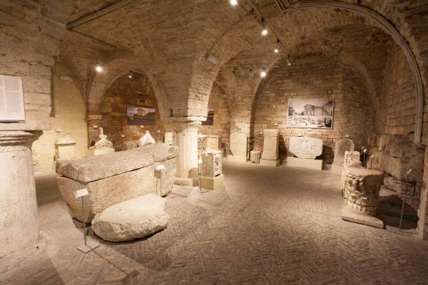
[{"label": "carved relief slab below the large framed picture, without its plinth", "polygon": [[322,140],[310,137],[290,138],[290,152],[299,158],[315,160],[322,154]]}]

